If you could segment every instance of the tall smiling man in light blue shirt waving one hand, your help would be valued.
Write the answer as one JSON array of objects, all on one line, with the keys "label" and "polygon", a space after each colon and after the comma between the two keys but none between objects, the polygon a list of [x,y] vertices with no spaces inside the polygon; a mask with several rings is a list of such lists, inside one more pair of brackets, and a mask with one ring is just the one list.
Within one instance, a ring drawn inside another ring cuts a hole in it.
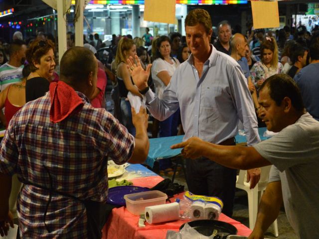
[{"label": "tall smiling man in light blue shirt waving one hand", "polygon": [[[204,9],[191,10],[185,19],[185,31],[191,55],[175,70],[161,100],[147,85],[150,66],[144,71],[139,62],[138,66],[129,63],[133,81],[146,97],[147,108],[159,120],[167,119],[180,108],[184,141],[197,136],[217,144],[234,145],[241,120],[248,145],[259,142],[254,105],[240,66],[209,44],[212,34],[209,13]],[[236,170],[204,157],[186,159],[186,170],[189,191],[221,198],[223,213],[231,216]],[[257,184],[259,176],[259,169],[248,171],[251,187]]]}]

